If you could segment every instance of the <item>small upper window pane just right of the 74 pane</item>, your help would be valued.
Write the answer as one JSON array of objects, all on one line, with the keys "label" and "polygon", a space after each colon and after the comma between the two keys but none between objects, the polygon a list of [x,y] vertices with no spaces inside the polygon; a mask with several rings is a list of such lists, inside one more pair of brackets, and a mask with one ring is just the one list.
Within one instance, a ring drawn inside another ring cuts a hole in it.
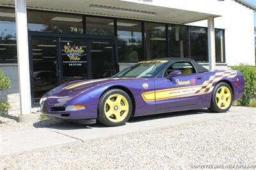
[{"label": "small upper window pane just right of the 74 pane", "polygon": [[86,34],[114,36],[114,19],[86,17]]}]

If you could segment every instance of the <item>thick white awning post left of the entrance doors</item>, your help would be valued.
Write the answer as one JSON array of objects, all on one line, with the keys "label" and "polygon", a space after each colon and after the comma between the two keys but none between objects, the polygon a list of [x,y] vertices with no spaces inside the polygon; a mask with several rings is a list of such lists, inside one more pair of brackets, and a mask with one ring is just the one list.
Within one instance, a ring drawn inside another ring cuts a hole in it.
[{"label": "thick white awning post left of the entrance doors", "polygon": [[31,114],[29,81],[28,23],[26,0],[15,0],[17,57],[19,70],[20,114]]}]

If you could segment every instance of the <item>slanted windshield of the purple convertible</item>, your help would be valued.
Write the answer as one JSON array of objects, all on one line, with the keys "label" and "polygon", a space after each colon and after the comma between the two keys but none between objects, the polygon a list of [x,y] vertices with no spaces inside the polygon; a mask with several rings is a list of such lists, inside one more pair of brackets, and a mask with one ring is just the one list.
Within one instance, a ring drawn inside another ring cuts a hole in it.
[{"label": "slanted windshield of the purple convertible", "polygon": [[167,63],[168,60],[141,61],[140,63],[125,68],[112,77],[155,77]]}]

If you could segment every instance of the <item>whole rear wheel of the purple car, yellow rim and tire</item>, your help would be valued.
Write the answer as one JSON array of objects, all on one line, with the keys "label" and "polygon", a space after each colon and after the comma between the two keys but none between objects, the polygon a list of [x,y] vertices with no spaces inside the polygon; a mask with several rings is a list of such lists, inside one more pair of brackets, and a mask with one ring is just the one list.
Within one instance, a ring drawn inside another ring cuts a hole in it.
[{"label": "whole rear wheel of the purple car, yellow rim and tire", "polygon": [[216,84],[212,91],[211,107],[212,112],[227,112],[232,105],[233,93],[230,86],[225,82]]}]

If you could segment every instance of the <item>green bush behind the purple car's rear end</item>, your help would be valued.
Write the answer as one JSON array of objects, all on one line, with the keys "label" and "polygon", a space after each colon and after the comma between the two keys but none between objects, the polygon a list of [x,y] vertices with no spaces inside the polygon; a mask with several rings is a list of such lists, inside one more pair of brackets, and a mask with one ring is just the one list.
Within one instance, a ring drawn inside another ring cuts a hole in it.
[{"label": "green bush behind the purple car's rear end", "polygon": [[247,106],[256,99],[256,66],[232,66],[233,70],[241,72],[244,76],[244,95],[237,101],[238,105]]}]

